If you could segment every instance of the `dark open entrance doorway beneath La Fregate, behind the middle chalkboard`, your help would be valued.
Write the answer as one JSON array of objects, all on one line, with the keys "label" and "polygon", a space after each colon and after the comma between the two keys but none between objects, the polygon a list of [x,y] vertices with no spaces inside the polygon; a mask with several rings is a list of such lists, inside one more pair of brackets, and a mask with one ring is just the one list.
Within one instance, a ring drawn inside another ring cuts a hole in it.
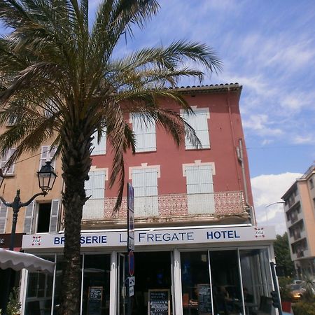
[{"label": "dark open entrance doorway beneath La Fregate, behind the middle chalkboard", "polygon": [[132,297],[132,315],[147,315],[150,290],[169,293],[169,309],[172,314],[172,271],[170,252],[134,253],[136,285]]}]

